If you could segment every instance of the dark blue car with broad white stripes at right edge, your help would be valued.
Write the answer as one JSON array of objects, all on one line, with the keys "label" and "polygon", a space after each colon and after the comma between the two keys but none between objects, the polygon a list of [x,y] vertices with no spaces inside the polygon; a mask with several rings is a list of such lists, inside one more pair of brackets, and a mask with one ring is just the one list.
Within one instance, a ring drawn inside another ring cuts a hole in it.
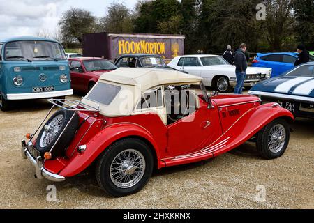
[{"label": "dark blue car with broad white stripes at right edge", "polygon": [[248,93],[262,102],[278,102],[296,117],[314,118],[314,62],[257,83]]}]

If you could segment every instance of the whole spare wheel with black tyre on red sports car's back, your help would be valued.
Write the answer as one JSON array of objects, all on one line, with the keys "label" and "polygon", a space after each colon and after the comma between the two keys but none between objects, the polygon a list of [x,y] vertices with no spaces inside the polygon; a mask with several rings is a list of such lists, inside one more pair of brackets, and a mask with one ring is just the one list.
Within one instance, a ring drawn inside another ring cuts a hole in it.
[{"label": "whole spare wheel with black tyre on red sports car's back", "polygon": [[40,155],[43,157],[46,152],[52,149],[52,146],[54,146],[64,130],[52,151],[54,157],[63,155],[65,149],[70,145],[78,125],[79,116],[75,112],[60,109],[54,113],[45,123],[42,130],[40,130],[36,139],[35,147],[40,152]]}]

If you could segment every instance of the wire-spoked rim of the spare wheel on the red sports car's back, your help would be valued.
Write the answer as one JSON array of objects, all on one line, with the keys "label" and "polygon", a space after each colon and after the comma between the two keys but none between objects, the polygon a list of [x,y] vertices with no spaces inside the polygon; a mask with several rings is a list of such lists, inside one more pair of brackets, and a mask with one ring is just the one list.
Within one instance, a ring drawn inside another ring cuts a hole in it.
[{"label": "wire-spoked rim of the spare wheel on the red sports car's back", "polygon": [[50,123],[45,125],[43,134],[40,137],[39,144],[41,147],[49,145],[56,137],[59,131],[61,130],[64,123],[63,114],[59,114],[54,117]]}]

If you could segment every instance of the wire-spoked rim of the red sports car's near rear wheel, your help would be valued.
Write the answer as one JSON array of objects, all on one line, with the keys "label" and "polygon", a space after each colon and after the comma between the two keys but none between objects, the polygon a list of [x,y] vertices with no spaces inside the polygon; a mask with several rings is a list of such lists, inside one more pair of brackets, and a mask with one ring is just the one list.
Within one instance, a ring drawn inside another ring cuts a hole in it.
[{"label": "wire-spoked rim of the red sports car's near rear wheel", "polygon": [[127,149],[112,160],[110,178],[117,187],[130,188],[142,179],[145,168],[145,158],[142,153]]}]

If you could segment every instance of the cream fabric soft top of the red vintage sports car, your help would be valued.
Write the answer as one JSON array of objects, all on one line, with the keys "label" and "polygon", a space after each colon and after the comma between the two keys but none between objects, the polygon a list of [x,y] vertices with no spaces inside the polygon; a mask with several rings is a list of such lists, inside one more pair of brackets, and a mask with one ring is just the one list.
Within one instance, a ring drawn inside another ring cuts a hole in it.
[{"label": "cream fabric soft top of the red vintage sports car", "polygon": [[[163,68],[119,68],[103,74],[97,83],[113,84],[120,87],[119,93],[114,96],[110,105],[103,105],[99,102],[100,114],[104,116],[128,116],[135,111],[142,93],[149,89],[165,85],[200,84],[201,81],[202,78],[200,77],[187,75],[176,70]],[[87,98],[89,98],[89,95],[95,88],[96,86],[82,100],[87,105],[94,107],[97,106],[96,102]],[[105,89],[99,91],[99,94],[105,97]]]}]

